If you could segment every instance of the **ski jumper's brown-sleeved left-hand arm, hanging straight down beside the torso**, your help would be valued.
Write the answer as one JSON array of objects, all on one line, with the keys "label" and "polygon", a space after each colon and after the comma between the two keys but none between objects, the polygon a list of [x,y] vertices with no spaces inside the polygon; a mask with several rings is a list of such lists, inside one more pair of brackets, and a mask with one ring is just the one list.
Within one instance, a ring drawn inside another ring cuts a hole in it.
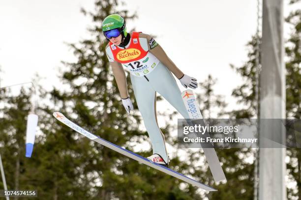
[{"label": "ski jumper's brown-sleeved left-hand arm, hanging straight down beside the torso", "polygon": [[[109,46],[107,46],[107,48],[110,49]],[[107,48],[106,48],[106,50],[107,50]],[[115,80],[117,82],[120,97],[122,99],[126,99],[126,98],[128,98],[128,92],[127,92],[126,76],[125,76],[125,72],[122,68],[122,65],[119,62],[116,62],[112,58],[110,58],[108,53],[107,53],[107,56],[109,58],[109,61],[110,61],[110,64],[111,64],[111,67],[113,70],[113,74],[114,74]]]}]

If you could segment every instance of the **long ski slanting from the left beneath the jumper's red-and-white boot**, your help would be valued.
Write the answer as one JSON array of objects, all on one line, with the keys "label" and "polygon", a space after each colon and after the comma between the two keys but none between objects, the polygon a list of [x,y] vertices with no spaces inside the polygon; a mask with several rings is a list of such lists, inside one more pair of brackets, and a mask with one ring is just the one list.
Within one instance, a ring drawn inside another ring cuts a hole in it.
[{"label": "long ski slanting from the left beneath the jumper's red-and-white boot", "polygon": [[159,170],[161,172],[164,172],[164,173],[166,173],[168,175],[172,175],[172,176],[174,176],[176,178],[179,178],[179,179],[181,179],[181,180],[183,180],[183,181],[185,181],[187,183],[190,183],[190,184],[192,184],[192,185],[194,185],[196,187],[202,188],[202,189],[204,189],[206,191],[217,191],[216,189],[214,189],[214,188],[212,188],[212,187],[210,187],[208,185],[200,183],[200,182],[198,182],[198,181],[196,181],[196,180],[194,180],[192,178],[189,178],[189,177],[187,177],[185,175],[182,175],[181,173],[178,173],[178,172],[176,172],[176,171],[174,171],[172,169],[169,169],[167,167],[164,167],[164,166],[161,166],[159,164],[156,164],[156,163],[148,160],[145,157],[142,157],[142,156],[140,156],[140,155],[138,155],[138,154],[136,154],[136,153],[134,153],[134,152],[132,152],[130,150],[126,150],[126,149],[124,149],[124,148],[122,148],[122,147],[120,147],[118,145],[115,145],[115,144],[113,144],[113,143],[111,143],[111,142],[109,142],[107,140],[102,139],[99,136],[96,136],[96,135],[90,133],[89,131],[85,130],[84,128],[80,127],[79,125],[76,125],[73,122],[71,122],[70,120],[68,120],[60,112],[54,112],[53,116],[57,120],[59,120],[61,123],[63,123],[64,125],[69,126],[73,130],[75,130],[78,133],[86,136],[90,140],[93,140],[93,141],[95,141],[95,142],[97,142],[97,143],[99,143],[99,144],[101,144],[101,145],[103,145],[103,146],[105,146],[107,148],[110,148],[111,150],[115,150],[115,151],[117,151],[117,152],[119,152],[119,153],[121,153],[121,154],[123,154],[123,155],[125,155],[127,157],[130,157],[130,158],[132,158],[134,160],[137,160],[140,163],[143,163],[143,164],[145,164],[147,166],[150,166],[150,167],[152,167],[152,168],[154,168],[156,170]]}]

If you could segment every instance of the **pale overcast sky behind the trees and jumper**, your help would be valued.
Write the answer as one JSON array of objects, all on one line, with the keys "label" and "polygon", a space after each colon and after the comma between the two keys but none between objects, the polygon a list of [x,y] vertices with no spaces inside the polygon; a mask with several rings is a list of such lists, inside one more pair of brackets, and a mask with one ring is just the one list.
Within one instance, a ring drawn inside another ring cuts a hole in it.
[{"label": "pale overcast sky behind the trees and jumper", "polygon": [[[241,80],[229,64],[240,66],[246,60],[245,44],[256,31],[256,2],[127,0],[125,7],[138,15],[127,28],[156,35],[184,74],[198,81],[209,74],[217,78],[215,92],[233,107],[231,92]],[[91,20],[80,8],[93,6],[94,0],[1,0],[0,85],[28,82],[38,73],[45,88],[59,86],[60,61],[74,60],[64,43],[89,38]]]}]

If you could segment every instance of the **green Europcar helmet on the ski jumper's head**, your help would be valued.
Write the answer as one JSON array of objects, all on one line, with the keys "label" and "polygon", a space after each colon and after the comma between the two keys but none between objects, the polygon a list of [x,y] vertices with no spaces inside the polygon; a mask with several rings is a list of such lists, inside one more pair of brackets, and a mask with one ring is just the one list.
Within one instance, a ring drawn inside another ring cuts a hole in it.
[{"label": "green Europcar helmet on the ski jumper's head", "polygon": [[126,27],[125,27],[125,20],[117,14],[112,14],[106,17],[102,22],[102,32],[112,30],[112,29],[119,29],[120,33],[123,37],[126,37]]}]

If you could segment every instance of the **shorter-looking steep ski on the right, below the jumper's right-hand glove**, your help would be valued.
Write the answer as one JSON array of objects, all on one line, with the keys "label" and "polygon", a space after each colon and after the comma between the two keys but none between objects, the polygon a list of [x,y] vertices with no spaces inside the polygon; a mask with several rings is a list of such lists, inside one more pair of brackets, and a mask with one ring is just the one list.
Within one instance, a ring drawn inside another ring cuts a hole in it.
[{"label": "shorter-looking steep ski on the right, below the jumper's right-hand glove", "polygon": [[[189,118],[193,124],[193,120],[202,120],[203,116],[197,104],[196,98],[191,90],[185,90],[182,92],[182,100],[186,106],[186,110],[189,114]],[[191,110],[191,112],[189,112]],[[193,112],[192,112],[193,110]],[[202,125],[205,125],[204,120],[201,121]],[[208,133],[203,135],[203,137],[210,137]],[[211,148],[208,148],[211,146]],[[209,164],[209,168],[211,170],[211,174],[215,182],[219,182],[222,180],[226,180],[226,176],[223,172],[223,169],[219,163],[218,157],[214,150],[213,145],[211,143],[206,143],[206,148],[203,148],[204,154],[206,156],[207,162]]]}]

